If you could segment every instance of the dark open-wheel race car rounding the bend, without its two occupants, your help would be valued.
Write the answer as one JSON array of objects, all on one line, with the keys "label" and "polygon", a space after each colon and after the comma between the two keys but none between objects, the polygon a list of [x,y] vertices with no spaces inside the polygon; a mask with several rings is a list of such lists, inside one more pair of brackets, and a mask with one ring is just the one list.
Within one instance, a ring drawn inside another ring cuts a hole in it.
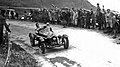
[{"label": "dark open-wheel race car rounding the bend, without its two occupants", "polygon": [[66,34],[56,36],[52,33],[47,37],[45,35],[40,36],[34,33],[29,33],[29,38],[31,46],[38,46],[41,49],[42,54],[44,54],[48,48],[63,46],[64,49],[68,49],[69,47],[69,39]]}]

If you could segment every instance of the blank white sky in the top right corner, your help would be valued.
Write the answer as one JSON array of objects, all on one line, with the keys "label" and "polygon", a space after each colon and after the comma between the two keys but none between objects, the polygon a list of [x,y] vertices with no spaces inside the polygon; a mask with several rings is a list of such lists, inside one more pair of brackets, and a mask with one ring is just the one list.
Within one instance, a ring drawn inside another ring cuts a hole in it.
[{"label": "blank white sky in the top right corner", "polygon": [[105,9],[111,9],[120,12],[120,0],[88,0],[88,1],[92,3],[94,6],[96,6],[96,4],[99,3],[101,8],[102,5],[104,5]]}]

